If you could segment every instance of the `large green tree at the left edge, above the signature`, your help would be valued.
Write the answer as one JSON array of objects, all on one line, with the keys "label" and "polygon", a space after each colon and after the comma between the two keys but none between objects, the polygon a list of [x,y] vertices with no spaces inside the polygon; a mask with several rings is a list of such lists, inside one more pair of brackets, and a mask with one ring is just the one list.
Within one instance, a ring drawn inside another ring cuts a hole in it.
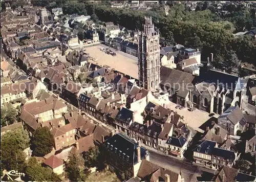
[{"label": "large green tree at the left edge, above the signature", "polygon": [[25,167],[24,149],[29,147],[29,135],[23,128],[5,133],[1,138],[1,160],[4,169],[23,171]]}]

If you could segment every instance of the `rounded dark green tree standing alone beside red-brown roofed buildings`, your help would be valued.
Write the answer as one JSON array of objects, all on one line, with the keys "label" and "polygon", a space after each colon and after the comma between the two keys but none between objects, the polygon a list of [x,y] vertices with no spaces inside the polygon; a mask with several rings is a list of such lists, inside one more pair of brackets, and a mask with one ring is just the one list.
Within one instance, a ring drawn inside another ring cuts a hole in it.
[{"label": "rounded dark green tree standing alone beside red-brown roofed buildings", "polygon": [[44,156],[52,151],[54,138],[48,127],[36,129],[32,140],[33,155]]}]

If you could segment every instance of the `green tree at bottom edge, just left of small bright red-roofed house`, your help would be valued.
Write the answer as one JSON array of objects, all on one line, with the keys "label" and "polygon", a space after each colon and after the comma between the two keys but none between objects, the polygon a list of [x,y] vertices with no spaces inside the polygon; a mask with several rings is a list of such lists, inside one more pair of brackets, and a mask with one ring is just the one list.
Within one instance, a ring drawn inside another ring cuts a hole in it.
[{"label": "green tree at bottom edge, just left of small bright red-roofed house", "polygon": [[49,167],[42,167],[37,163],[35,157],[29,158],[26,174],[30,181],[61,181],[57,174],[55,174]]}]

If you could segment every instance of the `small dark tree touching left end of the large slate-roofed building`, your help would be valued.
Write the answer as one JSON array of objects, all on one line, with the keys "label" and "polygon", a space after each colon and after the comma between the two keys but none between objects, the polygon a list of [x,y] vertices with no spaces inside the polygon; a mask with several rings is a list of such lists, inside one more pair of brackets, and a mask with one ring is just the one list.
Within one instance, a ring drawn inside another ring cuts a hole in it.
[{"label": "small dark tree touching left end of the large slate-roofed building", "polygon": [[99,148],[97,146],[90,147],[87,152],[84,153],[84,165],[87,168],[97,167],[98,166],[98,157],[99,157]]}]

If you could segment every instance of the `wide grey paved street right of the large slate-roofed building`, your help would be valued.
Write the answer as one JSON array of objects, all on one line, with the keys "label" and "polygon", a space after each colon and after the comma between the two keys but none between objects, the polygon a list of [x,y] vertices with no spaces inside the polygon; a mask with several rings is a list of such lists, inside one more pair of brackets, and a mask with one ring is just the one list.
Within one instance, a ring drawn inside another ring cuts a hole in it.
[{"label": "wide grey paved street right of the large slate-roofed building", "polygon": [[200,177],[203,172],[214,173],[214,170],[190,165],[182,161],[175,160],[174,158],[160,155],[153,151],[150,151],[150,161],[165,169],[172,170],[176,173],[181,172],[184,181],[197,181],[197,177]]}]

